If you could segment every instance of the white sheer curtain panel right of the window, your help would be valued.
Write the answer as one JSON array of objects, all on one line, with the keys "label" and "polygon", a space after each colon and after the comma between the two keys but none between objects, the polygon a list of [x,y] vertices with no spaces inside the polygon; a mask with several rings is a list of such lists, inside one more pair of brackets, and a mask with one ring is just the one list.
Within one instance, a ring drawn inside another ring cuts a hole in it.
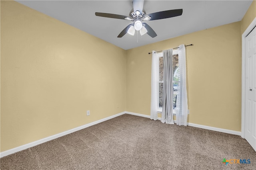
[{"label": "white sheer curtain panel right of the window", "polygon": [[180,88],[178,89],[178,103],[179,108],[176,111],[176,123],[177,125],[187,126],[188,118],[188,99],[186,88],[186,49],[182,44],[178,48],[179,53],[179,69],[180,69]]}]

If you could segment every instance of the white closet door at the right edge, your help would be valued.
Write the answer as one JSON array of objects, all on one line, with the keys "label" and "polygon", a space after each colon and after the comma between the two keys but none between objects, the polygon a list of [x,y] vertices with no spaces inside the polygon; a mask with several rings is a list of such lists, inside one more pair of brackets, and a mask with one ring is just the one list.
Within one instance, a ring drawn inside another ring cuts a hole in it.
[{"label": "white closet door at the right edge", "polygon": [[245,139],[256,150],[256,27],[246,37]]}]

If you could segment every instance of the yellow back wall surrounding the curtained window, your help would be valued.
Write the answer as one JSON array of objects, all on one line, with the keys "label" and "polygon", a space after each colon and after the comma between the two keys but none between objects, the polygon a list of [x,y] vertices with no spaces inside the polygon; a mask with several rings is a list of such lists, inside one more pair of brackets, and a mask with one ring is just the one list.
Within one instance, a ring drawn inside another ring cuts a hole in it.
[{"label": "yellow back wall surrounding the curtained window", "polygon": [[191,43],[186,47],[188,122],[240,131],[240,21],[128,50],[126,111],[150,115],[148,53]]}]

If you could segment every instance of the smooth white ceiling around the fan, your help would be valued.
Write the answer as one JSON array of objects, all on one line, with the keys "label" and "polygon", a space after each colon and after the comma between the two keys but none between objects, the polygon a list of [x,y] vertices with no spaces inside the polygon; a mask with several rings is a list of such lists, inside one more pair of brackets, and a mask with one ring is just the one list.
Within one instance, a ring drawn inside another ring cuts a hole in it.
[{"label": "smooth white ceiling around the fan", "polygon": [[182,16],[145,21],[157,36],[118,34],[130,23],[128,20],[95,16],[95,12],[129,16],[132,0],[27,0],[17,2],[63,21],[122,49],[132,49],[180,35],[241,21],[252,0],[145,0],[146,14],[183,9]]}]

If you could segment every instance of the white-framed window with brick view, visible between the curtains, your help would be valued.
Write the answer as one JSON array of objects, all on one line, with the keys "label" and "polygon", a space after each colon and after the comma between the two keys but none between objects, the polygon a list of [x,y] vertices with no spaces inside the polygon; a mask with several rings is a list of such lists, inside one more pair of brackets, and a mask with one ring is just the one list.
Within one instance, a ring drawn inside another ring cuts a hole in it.
[{"label": "white-framed window with brick view, visible between the curtains", "polygon": [[[164,62],[163,62],[163,53],[157,54],[158,61],[158,78],[157,78],[157,91],[158,91],[158,112],[162,112],[163,107],[163,80],[164,80]],[[180,86],[179,79],[179,58],[178,50],[172,51],[172,72],[173,72],[173,109],[178,106],[177,103],[177,94]]]}]

